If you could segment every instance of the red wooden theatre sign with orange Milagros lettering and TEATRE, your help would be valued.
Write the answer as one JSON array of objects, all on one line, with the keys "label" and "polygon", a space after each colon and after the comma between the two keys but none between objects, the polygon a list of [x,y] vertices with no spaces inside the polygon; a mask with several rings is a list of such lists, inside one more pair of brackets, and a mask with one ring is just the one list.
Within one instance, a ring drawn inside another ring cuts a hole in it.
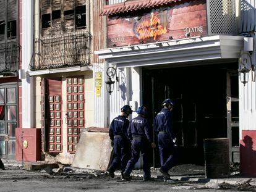
[{"label": "red wooden theatre sign with orange Milagros lettering and TEATRE", "polygon": [[206,0],[108,17],[108,47],[207,35]]}]

